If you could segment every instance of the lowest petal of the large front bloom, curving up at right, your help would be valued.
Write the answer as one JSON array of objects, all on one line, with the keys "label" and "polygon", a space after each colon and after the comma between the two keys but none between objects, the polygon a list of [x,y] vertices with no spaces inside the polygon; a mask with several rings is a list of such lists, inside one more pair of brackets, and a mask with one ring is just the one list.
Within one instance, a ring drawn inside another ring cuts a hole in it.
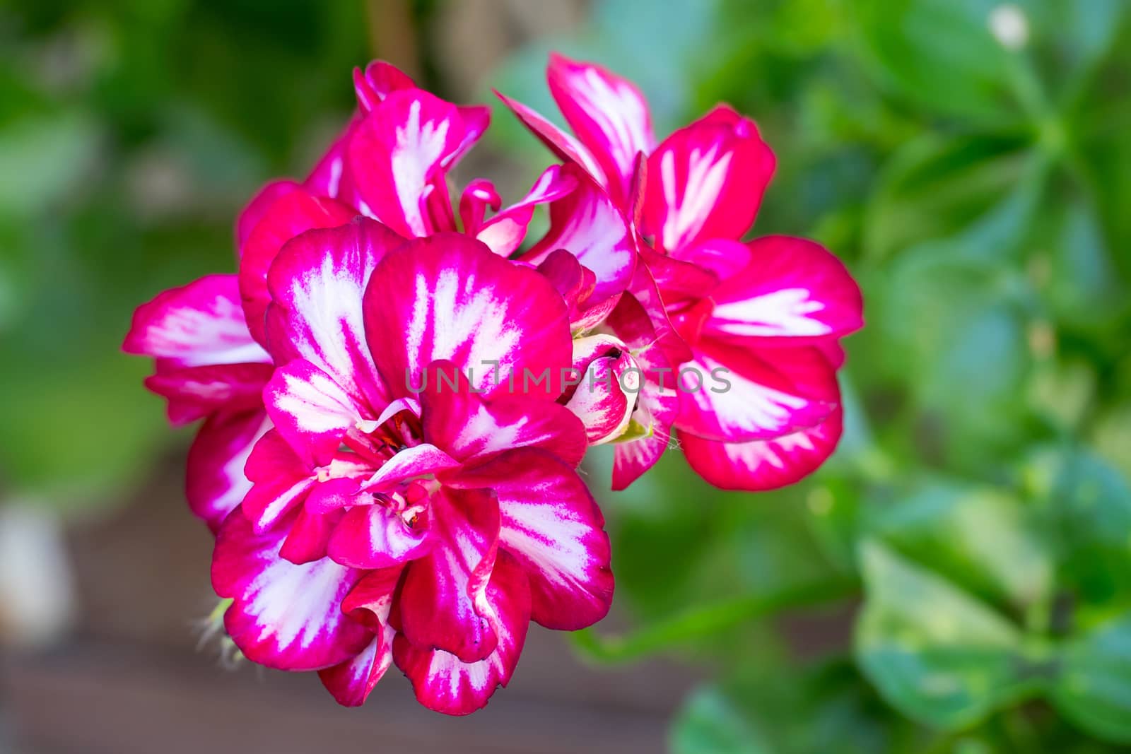
[{"label": "lowest petal of the large front bloom, curving up at right", "polygon": [[464,662],[440,649],[416,645],[405,634],[392,643],[392,658],[413,684],[416,700],[444,714],[470,714],[486,705],[499,686],[507,686],[523,653],[530,621],[526,573],[500,552],[486,588],[486,607],[498,642],[493,652]]}]

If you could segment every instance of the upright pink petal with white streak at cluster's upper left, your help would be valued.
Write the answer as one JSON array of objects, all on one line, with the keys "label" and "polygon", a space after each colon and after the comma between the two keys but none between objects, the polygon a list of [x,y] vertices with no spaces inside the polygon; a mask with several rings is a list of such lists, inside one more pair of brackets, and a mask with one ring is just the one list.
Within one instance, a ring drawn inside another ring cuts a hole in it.
[{"label": "upright pink petal with white streak at cluster's upper left", "polygon": [[398,89],[370,112],[349,144],[348,163],[366,214],[406,237],[437,229],[425,200],[433,179],[465,148],[456,105],[422,89]]}]

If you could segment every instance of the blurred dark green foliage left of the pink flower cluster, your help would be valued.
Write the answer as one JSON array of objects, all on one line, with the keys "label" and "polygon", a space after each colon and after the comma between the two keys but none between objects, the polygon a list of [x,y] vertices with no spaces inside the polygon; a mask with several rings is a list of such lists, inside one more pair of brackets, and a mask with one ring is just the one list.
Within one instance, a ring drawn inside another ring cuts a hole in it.
[{"label": "blurred dark green foliage left of the pink flower cluster", "polygon": [[119,353],[139,303],[234,271],[235,208],[352,106],[360,3],[0,5],[0,495],[81,510],[169,430]]}]

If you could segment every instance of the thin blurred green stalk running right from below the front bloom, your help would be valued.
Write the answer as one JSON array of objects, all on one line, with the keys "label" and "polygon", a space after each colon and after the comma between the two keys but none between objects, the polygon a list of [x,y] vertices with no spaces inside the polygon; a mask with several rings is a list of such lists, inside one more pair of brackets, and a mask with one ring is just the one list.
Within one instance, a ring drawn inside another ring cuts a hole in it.
[{"label": "thin blurred green stalk running right from below the front bloom", "polygon": [[573,647],[590,660],[601,664],[628,662],[748,621],[847,599],[858,593],[860,582],[855,578],[837,577],[767,595],[744,595],[699,605],[666,621],[620,635],[603,636],[593,629],[582,629],[573,632],[570,639]]}]

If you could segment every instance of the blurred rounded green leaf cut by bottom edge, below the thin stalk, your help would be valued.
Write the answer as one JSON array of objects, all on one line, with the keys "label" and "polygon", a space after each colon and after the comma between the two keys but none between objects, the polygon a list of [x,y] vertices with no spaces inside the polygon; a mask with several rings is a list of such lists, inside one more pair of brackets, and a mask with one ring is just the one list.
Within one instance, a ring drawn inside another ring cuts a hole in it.
[{"label": "blurred rounded green leaf cut by bottom edge, below the thin stalk", "polygon": [[694,691],[671,731],[674,754],[770,754],[761,731],[714,686]]}]

